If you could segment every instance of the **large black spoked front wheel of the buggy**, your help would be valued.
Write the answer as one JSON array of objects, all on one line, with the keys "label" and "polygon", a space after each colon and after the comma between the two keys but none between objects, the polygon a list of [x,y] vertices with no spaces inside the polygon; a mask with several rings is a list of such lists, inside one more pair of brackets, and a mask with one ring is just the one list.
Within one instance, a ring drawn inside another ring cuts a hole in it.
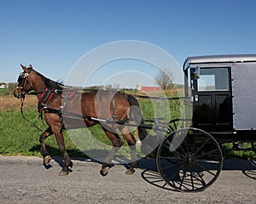
[{"label": "large black spoked front wheel of the buggy", "polygon": [[205,190],[223,167],[216,139],[193,127],[170,133],[160,144],[156,160],[162,178],[179,191]]}]

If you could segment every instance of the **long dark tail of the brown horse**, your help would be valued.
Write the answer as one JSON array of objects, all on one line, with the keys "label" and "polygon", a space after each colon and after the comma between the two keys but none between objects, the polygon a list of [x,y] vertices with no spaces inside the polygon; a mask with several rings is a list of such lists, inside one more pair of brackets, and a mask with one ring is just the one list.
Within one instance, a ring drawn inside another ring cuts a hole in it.
[{"label": "long dark tail of the brown horse", "polygon": [[137,122],[137,124],[138,124],[137,129],[138,129],[139,139],[143,140],[147,137],[148,133],[145,128],[140,126],[140,125],[145,125],[145,122],[143,120],[143,114],[140,109],[140,105],[137,102],[137,99],[130,94],[127,94],[127,100],[131,106],[133,106],[133,105],[136,106],[136,108],[131,108],[130,116],[131,115],[134,116],[135,122]]}]

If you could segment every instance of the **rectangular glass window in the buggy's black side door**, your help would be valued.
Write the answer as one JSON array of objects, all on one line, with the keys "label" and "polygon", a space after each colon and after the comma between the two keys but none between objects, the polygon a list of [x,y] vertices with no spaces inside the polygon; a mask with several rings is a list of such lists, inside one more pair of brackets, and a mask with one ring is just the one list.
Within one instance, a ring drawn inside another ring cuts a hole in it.
[{"label": "rectangular glass window in the buggy's black side door", "polygon": [[228,91],[228,68],[201,68],[197,86],[198,91]]}]

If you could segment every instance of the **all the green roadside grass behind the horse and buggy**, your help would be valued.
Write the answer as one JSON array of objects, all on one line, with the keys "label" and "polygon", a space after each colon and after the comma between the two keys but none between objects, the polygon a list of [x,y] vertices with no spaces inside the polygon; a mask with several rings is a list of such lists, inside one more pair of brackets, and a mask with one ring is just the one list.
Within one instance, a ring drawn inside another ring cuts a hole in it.
[{"label": "all the green roadside grass behind the horse and buggy", "polygon": [[[144,118],[164,117],[166,122],[170,119],[183,118],[183,113],[180,113],[179,110],[180,102],[178,100],[169,100],[167,106],[170,107],[170,111],[166,108],[166,102],[160,100],[140,99],[139,104]],[[28,108],[25,110],[25,115],[31,122],[44,129],[41,120],[38,118],[38,111]],[[88,153],[88,156],[104,156],[110,150],[111,143],[100,126],[90,127],[88,131],[87,133],[74,132],[73,135],[69,131],[64,132],[66,149],[70,156],[85,156],[83,152]],[[0,111],[0,133],[0,155],[41,156],[39,144],[41,132],[24,121],[20,111]],[[89,137],[89,133],[93,139]],[[136,131],[134,135],[137,137]],[[125,141],[124,144],[124,148],[119,152],[129,156],[130,150]],[[225,147],[230,148],[230,145],[225,144]],[[46,139],[46,147],[51,156],[60,156],[58,145],[53,135]],[[255,156],[255,153],[253,151],[232,150],[226,151],[225,156],[251,158]]]}]

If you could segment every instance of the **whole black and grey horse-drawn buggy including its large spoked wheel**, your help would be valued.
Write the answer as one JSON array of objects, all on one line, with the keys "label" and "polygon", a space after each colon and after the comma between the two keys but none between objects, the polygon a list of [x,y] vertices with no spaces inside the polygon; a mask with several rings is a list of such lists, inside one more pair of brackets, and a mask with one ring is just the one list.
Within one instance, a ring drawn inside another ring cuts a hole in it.
[{"label": "whole black and grey horse-drawn buggy including its large spoked wheel", "polygon": [[250,142],[254,149],[256,54],[188,57],[183,71],[193,117],[190,127],[163,140],[157,165],[175,189],[200,191],[218,178],[223,167],[221,144]]}]

